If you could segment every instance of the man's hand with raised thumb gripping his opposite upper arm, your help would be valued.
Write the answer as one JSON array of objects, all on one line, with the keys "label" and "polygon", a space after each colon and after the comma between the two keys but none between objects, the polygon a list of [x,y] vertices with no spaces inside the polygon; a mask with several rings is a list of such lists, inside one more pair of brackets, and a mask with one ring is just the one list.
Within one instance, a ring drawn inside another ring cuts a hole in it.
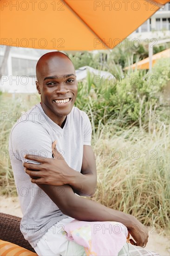
[{"label": "man's hand with raised thumb gripping his opposite upper arm", "polygon": [[62,186],[69,184],[74,170],[68,166],[64,157],[56,148],[56,141],[52,143],[51,158],[42,158],[38,155],[26,155],[25,158],[40,162],[41,164],[24,163],[25,171],[30,175],[31,182],[36,184],[50,184],[53,186]]}]

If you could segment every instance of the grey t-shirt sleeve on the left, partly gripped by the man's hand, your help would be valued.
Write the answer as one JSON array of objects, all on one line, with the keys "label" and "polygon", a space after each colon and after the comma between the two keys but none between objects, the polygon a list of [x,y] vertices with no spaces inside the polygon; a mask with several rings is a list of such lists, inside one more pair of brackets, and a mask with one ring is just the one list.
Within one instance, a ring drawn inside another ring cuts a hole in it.
[{"label": "grey t-shirt sleeve on the left, partly gripped by the man's hand", "polygon": [[11,132],[9,149],[11,157],[22,162],[38,163],[25,159],[24,155],[52,158],[52,138],[42,126],[33,122],[18,123]]}]

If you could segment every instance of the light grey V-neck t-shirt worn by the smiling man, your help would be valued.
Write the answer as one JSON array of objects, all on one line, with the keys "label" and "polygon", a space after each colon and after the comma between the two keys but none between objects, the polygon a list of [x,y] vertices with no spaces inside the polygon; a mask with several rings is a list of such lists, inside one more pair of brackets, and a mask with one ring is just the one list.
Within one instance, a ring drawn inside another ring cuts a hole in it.
[{"label": "light grey V-neck t-shirt worn by the smiling man", "polygon": [[91,136],[92,126],[88,115],[77,107],[73,107],[67,115],[63,128],[44,113],[40,103],[23,113],[13,126],[9,138],[9,155],[23,213],[20,230],[33,247],[52,225],[68,216],[31,182],[22,162],[33,161],[24,159],[24,155],[52,158],[52,142],[57,140],[57,149],[67,164],[80,172],[83,145],[91,145]]}]

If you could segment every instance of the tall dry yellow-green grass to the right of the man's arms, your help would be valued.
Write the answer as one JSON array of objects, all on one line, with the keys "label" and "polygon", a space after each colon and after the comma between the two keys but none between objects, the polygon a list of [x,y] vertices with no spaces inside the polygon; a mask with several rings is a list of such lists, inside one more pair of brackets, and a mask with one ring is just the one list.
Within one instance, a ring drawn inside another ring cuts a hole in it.
[{"label": "tall dry yellow-green grass to the right of the man's arms", "polygon": [[167,228],[170,218],[170,126],[152,132],[108,124],[92,143],[98,187],[92,200]]}]

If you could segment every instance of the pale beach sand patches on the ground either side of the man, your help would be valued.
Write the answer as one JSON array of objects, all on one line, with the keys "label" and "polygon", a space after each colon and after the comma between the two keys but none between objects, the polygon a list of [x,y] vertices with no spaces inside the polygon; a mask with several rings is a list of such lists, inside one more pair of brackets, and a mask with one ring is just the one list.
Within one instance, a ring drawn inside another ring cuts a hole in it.
[{"label": "pale beach sand patches on the ground either side of the man", "polygon": [[[0,212],[22,217],[18,197],[0,197]],[[149,241],[146,248],[162,256],[170,256],[170,237],[158,234],[154,228],[148,227]]]}]

